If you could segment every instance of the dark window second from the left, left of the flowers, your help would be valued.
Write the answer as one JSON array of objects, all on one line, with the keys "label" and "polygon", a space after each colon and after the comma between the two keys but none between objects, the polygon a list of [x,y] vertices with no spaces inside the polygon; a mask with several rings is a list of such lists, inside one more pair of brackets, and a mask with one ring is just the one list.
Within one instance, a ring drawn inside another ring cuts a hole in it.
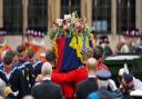
[{"label": "dark window second from the left, left of the flowers", "polygon": [[28,27],[47,28],[48,0],[28,0]]}]

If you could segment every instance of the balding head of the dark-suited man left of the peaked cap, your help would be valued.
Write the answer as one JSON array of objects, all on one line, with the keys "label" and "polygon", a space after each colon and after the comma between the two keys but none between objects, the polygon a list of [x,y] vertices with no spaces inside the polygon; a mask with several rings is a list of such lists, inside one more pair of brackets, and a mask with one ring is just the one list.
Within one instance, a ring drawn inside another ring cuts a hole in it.
[{"label": "balding head of the dark-suited man left of the peaked cap", "polygon": [[98,60],[94,58],[89,58],[87,60],[87,70],[89,75],[94,75],[95,73],[95,67],[98,66]]}]

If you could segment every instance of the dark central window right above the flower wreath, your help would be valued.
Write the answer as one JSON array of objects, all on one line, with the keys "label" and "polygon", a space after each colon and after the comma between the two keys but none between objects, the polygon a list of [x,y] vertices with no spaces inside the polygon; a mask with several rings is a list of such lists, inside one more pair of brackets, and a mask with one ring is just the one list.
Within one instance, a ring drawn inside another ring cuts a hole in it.
[{"label": "dark central window right above the flower wreath", "polygon": [[80,1],[81,0],[61,0],[61,18],[72,11],[78,11],[78,16],[80,17]]}]

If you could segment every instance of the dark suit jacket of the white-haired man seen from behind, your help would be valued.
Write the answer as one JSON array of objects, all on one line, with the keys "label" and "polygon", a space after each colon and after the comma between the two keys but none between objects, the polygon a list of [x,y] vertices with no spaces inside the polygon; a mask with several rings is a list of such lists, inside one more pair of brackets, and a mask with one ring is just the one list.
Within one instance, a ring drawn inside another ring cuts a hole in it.
[{"label": "dark suit jacket of the white-haired man seen from behind", "polygon": [[31,90],[31,95],[34,99],[62,99],[62,90],[60,86],[50,80],[44,80],[34,86]]}]

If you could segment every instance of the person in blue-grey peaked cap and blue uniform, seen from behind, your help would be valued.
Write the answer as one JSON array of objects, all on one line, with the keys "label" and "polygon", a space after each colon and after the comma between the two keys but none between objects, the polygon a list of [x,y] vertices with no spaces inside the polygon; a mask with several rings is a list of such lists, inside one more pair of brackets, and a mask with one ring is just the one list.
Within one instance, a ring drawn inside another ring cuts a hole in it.
[{"label": "person in blue-grey peaked cap and blue uniform, seen from behind", "polygon": [[115,99],[118,96],[108,90],[111,72],[99,70],[97,72],[99,90],[89,95],[88,99]]}]

